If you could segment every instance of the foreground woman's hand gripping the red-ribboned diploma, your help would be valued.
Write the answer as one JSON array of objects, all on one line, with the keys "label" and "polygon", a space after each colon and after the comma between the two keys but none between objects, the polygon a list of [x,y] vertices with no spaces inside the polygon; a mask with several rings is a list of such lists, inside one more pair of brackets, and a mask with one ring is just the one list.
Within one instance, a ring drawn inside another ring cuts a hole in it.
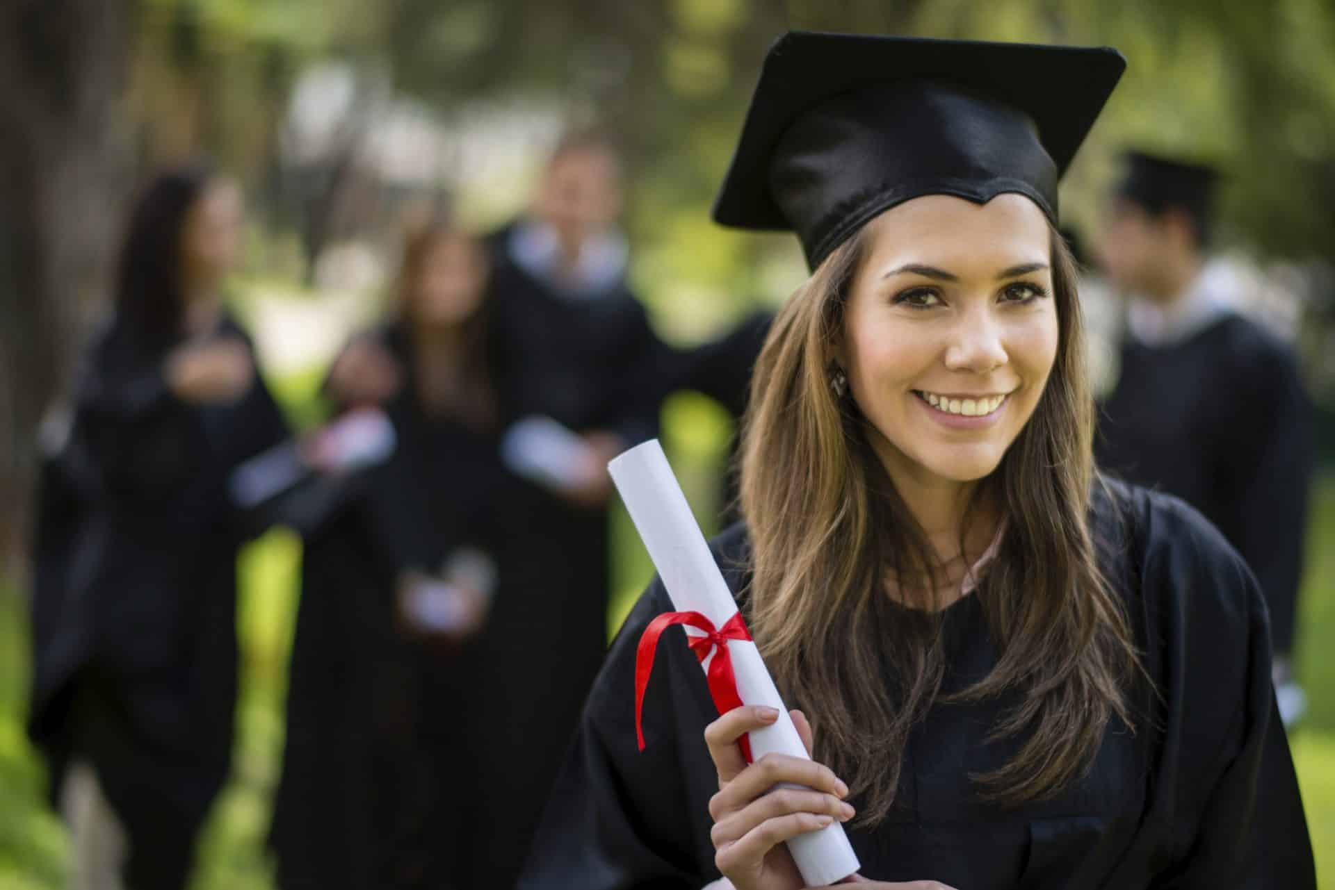
[{"label": "foreground woman's hand gripping the red-ribboned diploma", "polygon": [[[810,754],[812,726],[806,715],[789,711],[789,717]],[[804,890],[806,885],[785,842],[854,815],[844,801],[848,786],[826,766],[782,754],[766,754],[746,763],[737,741],[777,719],[778,711],[772,707],[744,705],[705,727],[705,743],[718,771],[718,794],[709,801],[714,865],[736,890]],[[805,787],[774,787],[781,782]],[[840,881],[840,886],[850,883],[865,890],[952,890],[936,881],[884,883],[860,874]]]}]

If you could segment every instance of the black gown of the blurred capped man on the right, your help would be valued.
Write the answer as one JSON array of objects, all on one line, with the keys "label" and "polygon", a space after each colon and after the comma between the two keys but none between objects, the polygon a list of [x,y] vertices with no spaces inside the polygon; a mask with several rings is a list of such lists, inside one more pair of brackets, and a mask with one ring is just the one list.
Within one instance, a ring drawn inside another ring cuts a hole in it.
[{"label": "black gown of the blurred capped man on the right", "polygon": [[1275,651],[1291,651],[1315,462],[1292,351],[1240,315],[1171,346],[1128,340],[1100,407],[1099,463],[1200,510],[1256,574]]}]

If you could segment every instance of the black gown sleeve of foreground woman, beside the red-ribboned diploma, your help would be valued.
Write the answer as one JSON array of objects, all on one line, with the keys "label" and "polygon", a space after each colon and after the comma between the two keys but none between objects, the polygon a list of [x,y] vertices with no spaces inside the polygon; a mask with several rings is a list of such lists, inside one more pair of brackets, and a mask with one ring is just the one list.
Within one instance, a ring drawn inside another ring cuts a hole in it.
[{"label": "black gown sleeve of foreground woman, beside the red-ribboned diploma", "polygon": [[700,890],[720,875],[709,839],[717,773],[705,726],[717,717],[704,671],[672,628],[635,742],[635,646],[670,604],[654,583],[613,643],[538,830],[522,890]]}]

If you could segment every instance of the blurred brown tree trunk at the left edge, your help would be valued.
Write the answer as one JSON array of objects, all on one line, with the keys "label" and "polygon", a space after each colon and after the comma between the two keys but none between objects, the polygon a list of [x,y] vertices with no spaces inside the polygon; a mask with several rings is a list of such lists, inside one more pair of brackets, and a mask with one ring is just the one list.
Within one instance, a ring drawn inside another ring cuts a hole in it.
[{"label": "blurred brown tree trunk at the left edge", "polygon": [[134,0],[0,4],[0,571],[24,564],[35,432],[108,290],[134,16]]}]

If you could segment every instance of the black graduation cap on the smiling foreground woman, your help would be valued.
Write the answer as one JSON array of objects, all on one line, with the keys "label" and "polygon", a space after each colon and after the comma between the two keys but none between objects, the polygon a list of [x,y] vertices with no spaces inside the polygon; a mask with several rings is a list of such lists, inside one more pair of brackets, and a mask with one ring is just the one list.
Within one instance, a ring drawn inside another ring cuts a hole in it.
[{"label": "black graduation cap on the smiling foreground woman", "polygon": [[1109,48],[789,32],[765,57],[714,220],[796,231],[812,268],[922,195],[1019,192],[1055,221],[1057,179],[1125,65]]}]

